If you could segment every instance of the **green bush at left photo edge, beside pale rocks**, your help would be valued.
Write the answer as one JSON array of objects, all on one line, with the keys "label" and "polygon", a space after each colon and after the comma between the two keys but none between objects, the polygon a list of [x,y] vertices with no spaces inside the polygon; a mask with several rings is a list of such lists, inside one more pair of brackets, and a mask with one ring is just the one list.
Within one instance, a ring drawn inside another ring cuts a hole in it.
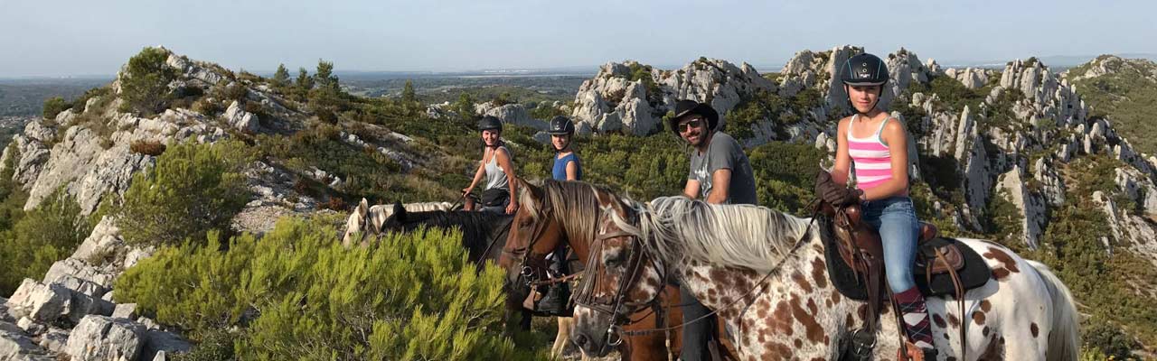
[{"label": "green bush at left photo edge, beside pale rocks", "polygon": [[12,294],[24,278],[39,279],[76,250],[93,231],[80,205],[58,190],[0,234],[0,293]]}]

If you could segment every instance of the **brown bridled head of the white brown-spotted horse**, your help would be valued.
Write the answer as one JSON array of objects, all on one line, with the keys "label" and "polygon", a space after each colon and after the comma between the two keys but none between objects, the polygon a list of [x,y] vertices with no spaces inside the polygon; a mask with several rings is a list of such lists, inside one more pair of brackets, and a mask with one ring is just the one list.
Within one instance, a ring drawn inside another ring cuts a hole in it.
[{"label": "brown bridled head of the white brown-spotted horse", "polygon": [[643,205],[610,201],[595,233],[587,268],[575,293],[572,340],[588,355],[603,356],[622,342],[621,327],[632,314],[658,307],[666,266],[644,244],[648,226]]}]

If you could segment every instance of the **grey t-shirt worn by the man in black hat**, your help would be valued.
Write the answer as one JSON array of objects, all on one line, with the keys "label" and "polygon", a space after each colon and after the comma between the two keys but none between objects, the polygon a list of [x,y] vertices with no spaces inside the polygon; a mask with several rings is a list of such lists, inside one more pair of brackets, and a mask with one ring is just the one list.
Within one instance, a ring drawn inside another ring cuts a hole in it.
[{"label": "grey t-shirt worn by the man in black hat", "polygon": [[751,171],[751,162],[747,154],[743,153],[739,142],[723,132],[715,132],[712,142],[707,146],[707,153],[691,150],[691,171],[687,179],[699,181],[699,196],[707,199],[712,193],[712,175],[720,169],[731,170],[731,183],[728,190],[728,204],[732,205],[756,205],[756,177]]}]

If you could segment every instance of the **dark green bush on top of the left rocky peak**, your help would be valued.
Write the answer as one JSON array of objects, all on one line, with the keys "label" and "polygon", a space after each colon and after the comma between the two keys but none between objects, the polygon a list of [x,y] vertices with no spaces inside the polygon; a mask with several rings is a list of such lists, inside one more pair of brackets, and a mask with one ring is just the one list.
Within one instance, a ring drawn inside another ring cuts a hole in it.
[{"label": "dark green bush on top of the left rocky peak", "polygon": [[177,79],[177,72],[165,64],[168,59],[169,52],[157,47],[145,47],[128,59],[120,78],[120,97],[133,110],[152,115],[164,109],[169,82]]}]

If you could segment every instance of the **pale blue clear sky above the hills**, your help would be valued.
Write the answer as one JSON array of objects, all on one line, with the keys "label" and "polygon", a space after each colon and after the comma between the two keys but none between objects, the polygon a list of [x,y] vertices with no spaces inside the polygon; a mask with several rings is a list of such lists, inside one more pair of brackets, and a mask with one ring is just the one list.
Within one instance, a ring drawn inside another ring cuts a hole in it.
[{"label": "pale blue clear sky above the hills", "polygon": [[941,64],[1157,53],[1155,13],[1157,1],[1112,0],[0,0],[0,76],[115,74],[147,45],[255,72],[318,58],[338,71],[772,66],[840,44]]}]

